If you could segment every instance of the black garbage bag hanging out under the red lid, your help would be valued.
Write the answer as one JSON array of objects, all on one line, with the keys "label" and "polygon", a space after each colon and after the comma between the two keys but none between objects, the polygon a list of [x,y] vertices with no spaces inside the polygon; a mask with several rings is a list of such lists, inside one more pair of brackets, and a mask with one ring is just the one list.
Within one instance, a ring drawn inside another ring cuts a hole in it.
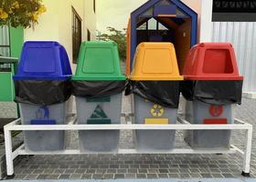
[{"label": "black garbage bag hanging out under the red lid", "polygon": [[211,105],[241,104],[242,80],[187,80],[182,95],[189,101],[199,100]]}]

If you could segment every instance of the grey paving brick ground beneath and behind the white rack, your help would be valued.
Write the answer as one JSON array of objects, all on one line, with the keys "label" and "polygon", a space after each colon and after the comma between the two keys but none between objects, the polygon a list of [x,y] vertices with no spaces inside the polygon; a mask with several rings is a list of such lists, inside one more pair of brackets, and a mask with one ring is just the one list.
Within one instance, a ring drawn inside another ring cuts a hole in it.
[{"label": "grey paving brick ground beneath and behind the white rack", "polygon": [[[123,100],[122,122],[129,120],[130,98]],[[256,100],[243,99],[237,117],[254,126]],[[245,133],[232,133],[232,144],[244,147]],[[68,148],[78,148],[77,132],[66,135]],[[183,133],[176,133],[176,147],[184,147]],[[133,133],[122,131],[120,146],[133,147]],[[251,178],[256,177],[256,142],[252,145]],[[15,179],[123,179],[123,178],[242,178],[242,159],[232,155],[66,155],[24,157],[15,167]]]}]

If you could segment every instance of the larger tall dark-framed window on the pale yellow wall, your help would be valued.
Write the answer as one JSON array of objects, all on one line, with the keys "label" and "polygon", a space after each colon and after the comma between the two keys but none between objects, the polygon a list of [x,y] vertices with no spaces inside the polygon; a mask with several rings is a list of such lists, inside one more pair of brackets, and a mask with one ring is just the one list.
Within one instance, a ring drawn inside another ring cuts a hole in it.
[{"label": "larger tall dark-framed window on the pale yellow wall", "polygon": [[80,15],[72,8],[72,49],[73,63],[77,64],[81,45],[81,18]]}]

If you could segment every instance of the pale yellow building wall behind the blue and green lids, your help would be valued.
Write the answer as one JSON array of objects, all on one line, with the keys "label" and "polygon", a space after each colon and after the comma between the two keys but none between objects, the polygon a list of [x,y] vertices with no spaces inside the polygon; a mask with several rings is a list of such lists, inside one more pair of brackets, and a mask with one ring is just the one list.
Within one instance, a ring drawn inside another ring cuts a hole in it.
[{"label": "pale yellow building wall behind the blue and green lids", "polygon": [[[97,1],[96,1],[97,3]],[[87,29],[91,39],[96,38],[96,15],[93,0],[43,0],[48,11],[41,15],[38,25],[25,30],[27,40],[54,40],[64,45],[72,63],[72,6],[82,19],[82,40],[87,40]],[[73,73],[76,65],[72,64]]]}]

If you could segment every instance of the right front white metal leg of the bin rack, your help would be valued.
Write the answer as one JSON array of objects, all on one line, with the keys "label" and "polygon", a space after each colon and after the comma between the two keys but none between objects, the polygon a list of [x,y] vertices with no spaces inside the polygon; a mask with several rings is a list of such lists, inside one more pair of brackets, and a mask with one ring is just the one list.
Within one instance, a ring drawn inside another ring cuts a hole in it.
[{"label": "right front white metal leg of the bin rack", "polygon": [[251,142],[252,142],[252,126],[246,133],[246,151],[243,155],[243,167],[241,175],[243,177],[250,177],[250,163],[251,163]]}]

